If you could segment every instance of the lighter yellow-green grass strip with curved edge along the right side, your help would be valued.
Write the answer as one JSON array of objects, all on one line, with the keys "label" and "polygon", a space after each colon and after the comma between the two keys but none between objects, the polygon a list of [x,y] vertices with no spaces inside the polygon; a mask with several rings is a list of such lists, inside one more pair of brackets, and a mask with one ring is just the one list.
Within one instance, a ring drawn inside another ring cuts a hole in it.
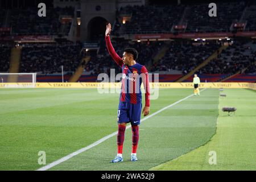
[{"label": "lighter yellow-green grass strip with curved edge along the right side", "polygon": [[[256,170],[256,92],[225,89],[220,98],[216,135],[204,146],[160,164],[151,170]],[[222,107],[237,107],[228,116]],[[216,152],[216,164],[209,164],[210,151]]]}]

